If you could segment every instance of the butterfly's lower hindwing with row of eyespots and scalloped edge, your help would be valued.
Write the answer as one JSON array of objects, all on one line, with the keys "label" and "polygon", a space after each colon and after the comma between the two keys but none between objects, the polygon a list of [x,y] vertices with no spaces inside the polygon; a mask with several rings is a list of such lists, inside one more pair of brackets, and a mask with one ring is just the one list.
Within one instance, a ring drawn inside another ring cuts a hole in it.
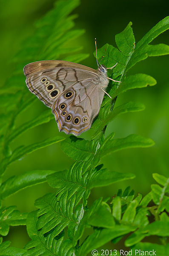
[{"label": "butterfly's lower hindwing with row of eyespots and scalloped edge", "polygon": [[80,135],[89,130],[97,116],[104,93],[96,79],[84,79],[63,91],[52,105],[59,131]]}]

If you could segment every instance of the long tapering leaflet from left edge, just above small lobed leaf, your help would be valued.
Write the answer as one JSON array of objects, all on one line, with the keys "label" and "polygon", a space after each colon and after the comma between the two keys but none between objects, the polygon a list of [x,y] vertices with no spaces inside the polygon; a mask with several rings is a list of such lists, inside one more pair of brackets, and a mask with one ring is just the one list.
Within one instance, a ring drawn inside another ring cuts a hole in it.
[{"label": "long tapering leaflet from left edge, just above small lobed leaf", "polygon": [[54,171],[36,170],[26,172],[23,175],[10,177],[0,186],[0,198],[5,199],[28,186],[45,182],[46,176],[52,173],[54,173]]}]

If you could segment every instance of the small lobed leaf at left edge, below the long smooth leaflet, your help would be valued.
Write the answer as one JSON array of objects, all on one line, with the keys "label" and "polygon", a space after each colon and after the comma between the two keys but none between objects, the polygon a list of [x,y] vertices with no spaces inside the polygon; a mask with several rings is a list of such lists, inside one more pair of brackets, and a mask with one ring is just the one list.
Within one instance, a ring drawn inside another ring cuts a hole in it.
[{"label": "small lobed leaf at left edge, below the long smooth leaflet", "polygon": [[0,209],[0,235],[7,236],[9,226],[26,225],[27,213],[14,210],[16,206],[3,207]]}]

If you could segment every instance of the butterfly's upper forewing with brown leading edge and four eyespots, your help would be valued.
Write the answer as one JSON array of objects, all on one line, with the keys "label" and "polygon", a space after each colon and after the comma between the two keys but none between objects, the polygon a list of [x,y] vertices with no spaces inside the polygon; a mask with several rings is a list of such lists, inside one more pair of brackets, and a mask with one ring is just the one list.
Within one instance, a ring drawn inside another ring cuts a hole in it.
[{"label": "butterfly's upper forewing with brown leading edge and four eyespots", "polygon": [[95,70],[69,61],[37,61],[24,67],[26,85],[47,107],[68,87],[89,77]]}]

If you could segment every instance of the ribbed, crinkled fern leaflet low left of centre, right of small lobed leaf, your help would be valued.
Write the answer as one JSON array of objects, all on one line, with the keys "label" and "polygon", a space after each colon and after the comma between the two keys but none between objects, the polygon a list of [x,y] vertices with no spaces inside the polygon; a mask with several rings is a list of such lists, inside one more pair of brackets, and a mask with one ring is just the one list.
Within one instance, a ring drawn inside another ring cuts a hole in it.
[{"label": "ribbed, crinkled fern leaflet low left of centre, right of small lobed leaf", "polygon": [[[38,221],[37,229],[41,234],[52,232],[52,236],[58,236],[65,227],[70,227],[69,235],[74,235],[77,228],[77,214],[74,214],[75,195],[70,199],[64,194],[60,201],[54,193],[47,194],[35,201],[35,206],[39,208],[37,211]],[[74,230],[74,231],[73,231]],[[73,231],[73,232],[72,232]]]}]

